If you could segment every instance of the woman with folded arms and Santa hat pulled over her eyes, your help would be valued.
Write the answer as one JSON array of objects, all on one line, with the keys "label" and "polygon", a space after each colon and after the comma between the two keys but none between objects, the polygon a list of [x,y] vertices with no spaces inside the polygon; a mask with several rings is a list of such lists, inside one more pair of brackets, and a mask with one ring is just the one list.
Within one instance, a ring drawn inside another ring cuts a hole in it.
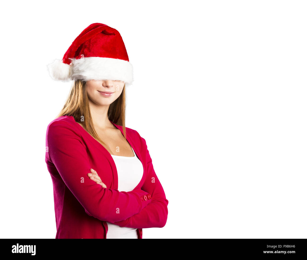
[{"label": "woman with folded arms and Santa hat pulled over her eyes", "polygon": [[168,200],[146,141],[125,127],[133,69],[119,32],[89,25],[48,69],[73,80],[46,133],[56,238],[141,239],[142,228],[164,227]]}]

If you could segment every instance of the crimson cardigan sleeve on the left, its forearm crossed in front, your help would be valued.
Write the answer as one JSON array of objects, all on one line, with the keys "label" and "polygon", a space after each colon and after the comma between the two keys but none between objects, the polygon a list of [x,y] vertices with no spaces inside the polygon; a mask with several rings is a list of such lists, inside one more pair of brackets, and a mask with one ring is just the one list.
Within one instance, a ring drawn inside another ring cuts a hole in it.
[{"label": "crimson cardigan sleeve on the left, its forearm crossed in front", "polygon": [[140,198],[148,195],[142,189],[119,192],[103,188],[89,179],[87,173],[90,173],[91,165],[86,146],[69,122],[59,120],[49,124],[46,146],[47,160],[55,165],[65,185],[88,215],[113,223],[137,214],[150,203],[150,199]]}]

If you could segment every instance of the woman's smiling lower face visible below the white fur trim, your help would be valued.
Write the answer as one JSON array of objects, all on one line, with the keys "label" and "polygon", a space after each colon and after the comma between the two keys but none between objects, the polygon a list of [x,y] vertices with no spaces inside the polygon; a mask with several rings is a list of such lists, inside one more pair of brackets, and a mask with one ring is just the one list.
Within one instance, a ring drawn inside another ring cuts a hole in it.
[{"label": "woman's smiling lower face visible below the white fur trim", "polygon": [[88,98],[97,105],[107,106],[122,93],[125,82],[119,80],[88,80],[86,91]]}]

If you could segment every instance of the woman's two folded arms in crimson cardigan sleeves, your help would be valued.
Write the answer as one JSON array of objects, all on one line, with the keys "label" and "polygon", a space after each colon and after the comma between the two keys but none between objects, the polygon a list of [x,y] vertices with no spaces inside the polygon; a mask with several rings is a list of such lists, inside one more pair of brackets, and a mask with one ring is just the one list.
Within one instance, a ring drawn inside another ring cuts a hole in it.
[{"label": "woman's two folded arms in crimson cardigan sleeves", "polygon": [[[141,139],[145,142],[145,139]],[[88,215],[122,227],[165,226],[168,200],[154,172],[147,145],[146,180],[143,186],[130,192],[119,192],[97,185],[88,178],[91,165],[86,147],[69,122],[52,122],[47,129],[46,140],[49,149],[47,160],[55,165],[65,185]],[[84,183],[80,182],[82,177]],[[148,194],[150,198],[147,200],[140,199]],[[120,208],[120,214],[117,208]]]}]

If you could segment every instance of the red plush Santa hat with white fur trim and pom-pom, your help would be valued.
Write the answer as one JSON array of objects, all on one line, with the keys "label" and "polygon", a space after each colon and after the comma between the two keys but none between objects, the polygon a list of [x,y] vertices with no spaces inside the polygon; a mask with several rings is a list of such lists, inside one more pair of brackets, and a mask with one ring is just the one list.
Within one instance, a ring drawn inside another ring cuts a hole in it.
[{"label": "red plush Santa hat with white fur trim and pom-pom", "polygon": [[133,82],[133,68],[119,32],[93,23],[80,33],[62,60],[47,65],[53,80],[120,80]]}]

